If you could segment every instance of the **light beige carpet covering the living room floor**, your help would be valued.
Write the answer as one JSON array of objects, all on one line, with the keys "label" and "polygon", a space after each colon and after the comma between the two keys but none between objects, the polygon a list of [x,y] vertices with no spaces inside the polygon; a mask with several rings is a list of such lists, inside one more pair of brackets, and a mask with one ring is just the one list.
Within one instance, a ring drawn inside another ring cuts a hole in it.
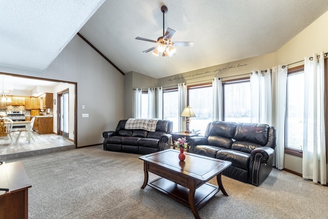
[{"label": "light beige carpet covering the living room floor", "polygon": [[[32,183],[29,218],[194,218],[170,197],[140,189],[140,155],[102,148],[20,159]],[[225,176],[222,182],[229,196],[218,192],[199,210],[201,218],[327,218],[328,188],[297,175],[274,169],[259,187]]]}]

